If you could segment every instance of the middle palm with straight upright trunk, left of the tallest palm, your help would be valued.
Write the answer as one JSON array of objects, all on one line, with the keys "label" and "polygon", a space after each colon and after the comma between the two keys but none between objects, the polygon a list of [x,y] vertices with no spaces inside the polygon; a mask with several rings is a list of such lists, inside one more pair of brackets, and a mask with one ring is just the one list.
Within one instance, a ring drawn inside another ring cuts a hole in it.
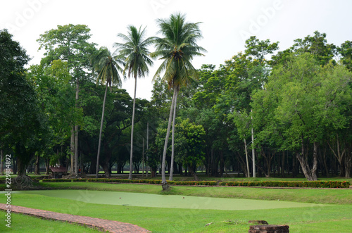
[{"label": "middle palm with straight upright trunk, left of the tallest palm", "polygon": [[118,34],[124,44],[115,43],[116,52],[125,57],[125,68],[123,75],[126,77],[134,77],[134,97],[132,111],[132,129],[131,129],[131,150],[130,150],[130,175],[128,179],[132,180],[132,161],[133,161],[133,130],[134,130],[134,111],[136,106],[137,77],[145,77],[149,74],[149,65],[153,65],[153,61],[149,58],[148,46],[153,43],[153,37],[145,39],[145,27],[142,26],[137,30],[136,27],[130,25],[127,27],[128,34]]}]

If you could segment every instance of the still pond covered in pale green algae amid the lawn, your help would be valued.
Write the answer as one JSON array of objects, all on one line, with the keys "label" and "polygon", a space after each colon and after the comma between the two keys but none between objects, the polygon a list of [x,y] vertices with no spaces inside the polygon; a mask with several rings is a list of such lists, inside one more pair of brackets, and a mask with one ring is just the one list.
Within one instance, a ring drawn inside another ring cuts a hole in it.
[{"label": "still pond covered in pale green algae amid the lawn", "polygon": [[[87,203],[109,204],[120,206],[142,206],[158,208],[187,208],[212,210],[263,210],[273,208],[299,208],[322,206],[313,203],[297,203],[289,201],[262,201],[249,199],[225,199],[199,196],[178,196],[142,194],[118,191],[92,190],[40,190],[13,191],[13,194],[38,194],[73,199]],[[13,196],[15,199],[15,195]]]}]

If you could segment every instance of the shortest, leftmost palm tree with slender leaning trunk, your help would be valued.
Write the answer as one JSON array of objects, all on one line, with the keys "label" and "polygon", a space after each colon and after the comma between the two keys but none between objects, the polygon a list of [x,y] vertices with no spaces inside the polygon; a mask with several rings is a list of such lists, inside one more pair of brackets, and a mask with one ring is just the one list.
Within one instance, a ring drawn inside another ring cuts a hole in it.
[{"label": "shortest, leftmost palm tree with slender leaning trunk", "polygon": [[106,93],[108,92],[108,86],[110,87],[115,84],[116,86],[121,85],[120,75],[118,70],[122,70],[119,66],[119,63],[123,65],[122,59],[118,56],[113,56],[111,52],[106,47],[101,47],[90,57],[92,66],[94,70],[99,72],[99,75],[96,79],[96,84],[99,82],[106,83],[105,94],[103,99],[103,111],[101,113],[101,124],[99,132],[99,144],[98,144],[98,153],[96,156],[96,178],[99,174],[99,156],[101,148],[101,132],[103,131],[103,119],[105,112],[105,102],[106,102]]}]

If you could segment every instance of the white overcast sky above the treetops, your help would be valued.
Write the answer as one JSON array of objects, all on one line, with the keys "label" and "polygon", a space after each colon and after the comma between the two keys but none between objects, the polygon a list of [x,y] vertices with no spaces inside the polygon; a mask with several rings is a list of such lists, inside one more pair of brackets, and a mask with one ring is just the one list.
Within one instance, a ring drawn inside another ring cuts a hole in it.
[{"label": "white overcast sky above the treetops", "polygon": [[[57,25],[87,25],[92,33],[90,42],[113,51],[113,43],[120,42],[116,35],[126,34],[127,25],[146,26],[151,37],[158,31],[157,18],[181,12],[189,22],[202,22],[199,46],[208,52],[194,58],[194,66],[201,68],[202,64],[218,67],[244,51],[244,41],[251,35],[279,42],[284,50],[294,39],[318,30],[327,34],[328,43],[339,46],[352,40],[351,9],[348,0],[6,0],[0,1],[0,29],[8,28],[32,57],[30,64],[38,64],[43,51],[37,51],[36,40]],[[149,77],[138,80],[138,98],[151,98],[151,80],[159,64],[155,62]],[[133,96],[133,85],[130,80],[122,88]]]}]

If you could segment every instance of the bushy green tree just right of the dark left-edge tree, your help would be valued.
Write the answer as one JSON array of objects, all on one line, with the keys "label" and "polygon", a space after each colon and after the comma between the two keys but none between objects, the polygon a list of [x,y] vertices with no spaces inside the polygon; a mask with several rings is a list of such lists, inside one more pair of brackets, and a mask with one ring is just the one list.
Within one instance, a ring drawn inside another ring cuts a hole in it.
[{"label": "bushy green tree just right of the dark left-edge tree", "polygon": [[[70,137],[70,125],[82,118],[82,113],[75,111],[75,89],[70,85],[71,75],[68,73],[67,63],[54,60],[44,68],[42,65],[32,65],[27,78],[33,82],[38,94],[39,106],[46,113],[51,126],[51,137],[46,151],[37,153],[36,172],[39,172],[39,158],[46,160],[46,172],[49,172],[49,161],[55,151],[61,149]],[[60,148],[60,149],[59,149]],[[53,161],[54,163],[54,161]]]}]

